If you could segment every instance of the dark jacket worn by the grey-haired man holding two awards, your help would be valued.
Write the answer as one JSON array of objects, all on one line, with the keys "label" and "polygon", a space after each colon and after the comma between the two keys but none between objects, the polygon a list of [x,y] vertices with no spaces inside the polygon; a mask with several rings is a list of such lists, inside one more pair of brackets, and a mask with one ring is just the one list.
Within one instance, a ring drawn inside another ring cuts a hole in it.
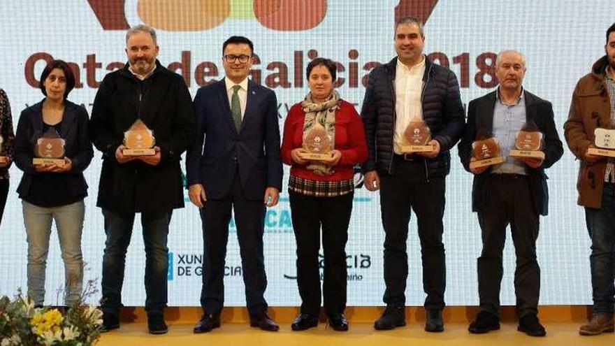
[{"label": "dark jacket worn by the grey-haired man holding two awards", "polygon": [[[461,164],[470,172],[470,157],[472,156],[472,142],[476,140],[477,133],[493,133],[493,108],[495,107],[495,92],[470,101],[468,105],[468,123],[465,124],[463,137],[459,142],[458,150]],[[549,212],[549,190],[547,189],[547,175],[545,168],[551,167],[562,157],[563,146],[555,127],[553,107],[551,102],[523,91],[526,99],[526,122],[534,122],[544,134],[544,162],[539,168],[526,167],[530,179],[532,200],[536,212],[547,215]],[[474,176],[472,183],[472,210],[478,211],[489,203],[486,198],[487,178],[491,168]]]}]

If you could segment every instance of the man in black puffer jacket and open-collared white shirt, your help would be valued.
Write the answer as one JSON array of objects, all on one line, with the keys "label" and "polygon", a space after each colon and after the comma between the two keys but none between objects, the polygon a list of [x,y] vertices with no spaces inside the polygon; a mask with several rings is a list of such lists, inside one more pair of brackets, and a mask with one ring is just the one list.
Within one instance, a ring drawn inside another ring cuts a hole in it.
[{"label": "man in black puffer jacket and open-collared white shirt", "polygon": [[[427,294],[425,330],[444,330],[444,178],[450,168],[449,150],[461,137],[464,111],[457,78],[423,55],[424,43],[423,24],[417,18],[405,17],[396,23],[398,56],[370,73],[361,109],[369,150],[363,164],[365,184],[370,191],[380,189],[386,235],[386,310],[375,329],[405,325],[406,240],[410,210],[414,210]],[[404,132],[417,120],[431,130],[428,145],[433,150],[407,154],[402,150]]]}]

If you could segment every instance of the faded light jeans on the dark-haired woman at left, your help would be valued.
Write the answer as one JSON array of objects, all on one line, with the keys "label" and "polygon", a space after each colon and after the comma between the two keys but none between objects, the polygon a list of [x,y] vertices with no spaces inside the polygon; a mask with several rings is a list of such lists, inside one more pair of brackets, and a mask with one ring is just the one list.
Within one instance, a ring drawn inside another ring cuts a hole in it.
[{"label": "faded light jeans on the dark-haired woman at left", "polygon": [[50,208],[22,201],[22,207],[28,240],[28,296],[34,299],[35,305],[43,305],[45,302],[45,269],[51,222],[55,219],[64,261],[64,304],[72,305],[80,299],[83,283],[81,254],[81,231],[85,213],[83,200]]}]

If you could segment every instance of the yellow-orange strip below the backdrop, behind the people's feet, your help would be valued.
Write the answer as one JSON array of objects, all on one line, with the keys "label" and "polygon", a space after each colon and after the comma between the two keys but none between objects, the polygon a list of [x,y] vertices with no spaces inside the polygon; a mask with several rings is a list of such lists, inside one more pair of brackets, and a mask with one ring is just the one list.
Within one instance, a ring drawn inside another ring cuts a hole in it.
[{"label": "yellow-orange strip below the backdrop, behind the people's feet", "polygon": [[[278,323],[290,323],[298,314],[297,307],[269,307],[269,315]],[[372,323],[384,311],[384,307],[377,306],[349,306],[346,308],[346,317],[354,323]],[[444,322],[472,322],[479,308],[477,306],[447,306],[444,308]],[[201,318],[200,307],[168,307],[165,310],[167,322],[194,323]],[[500,310],[502,322],[516,321],[513,306],[504,306]],[[543,322],[581,323],[591,315],[591,307],[586,305],[542,305],[538,308],[538,316]],[[122,322],[147,322],[147,315],[143,307],[124,307],[121,315]],[[321,315],[321,319],[325,319]],[[423,307],[406,307],[407,322],[424,322],[425,310]],[[243,307],[226,307],[222,310],[222,323],[246,323],[249,320],[247,310]]]}]

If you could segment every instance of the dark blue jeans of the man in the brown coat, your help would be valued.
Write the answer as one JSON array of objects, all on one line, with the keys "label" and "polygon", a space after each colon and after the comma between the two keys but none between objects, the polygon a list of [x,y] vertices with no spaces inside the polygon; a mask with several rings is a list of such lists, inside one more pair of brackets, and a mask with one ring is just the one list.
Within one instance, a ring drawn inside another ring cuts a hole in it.
[{"label": "dark blue jeans of the man in the brown coat", "polygon": [[591,237],[591,287],[594,314],[613,315],[615,303],[615,187],[605,183],[600,209],[585,208]]}]

